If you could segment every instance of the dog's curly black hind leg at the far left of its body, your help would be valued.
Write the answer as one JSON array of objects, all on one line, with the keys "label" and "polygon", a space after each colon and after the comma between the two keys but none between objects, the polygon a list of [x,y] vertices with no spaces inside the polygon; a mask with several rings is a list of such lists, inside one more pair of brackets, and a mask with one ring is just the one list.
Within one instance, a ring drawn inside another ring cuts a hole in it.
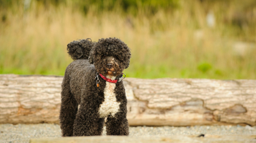
[{"label": "dog's curly black hind leg at the far left of its body", "polygon": [[60,128],[62,129],[62,137],[73,136],[74,120],[78,110],[78,104],[72,95],[69,85],[69,77],[65,73],[62,82],[62,101],[60,105]]}]

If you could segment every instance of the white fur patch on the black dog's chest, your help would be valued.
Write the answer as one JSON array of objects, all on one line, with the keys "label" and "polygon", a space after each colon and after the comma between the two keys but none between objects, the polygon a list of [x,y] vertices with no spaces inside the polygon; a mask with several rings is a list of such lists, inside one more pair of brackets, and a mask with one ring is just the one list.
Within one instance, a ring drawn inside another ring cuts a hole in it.
[{"label": "white fur patch on the black dog's chest", "polygon": [[[107,78],[109,78],[107,76]],[[108,117],[112,115],[115,117],[115,113],[119,111],[120,102],[117,102],[115,98],[115,84],[106,81],[106,87],[104,89],[104,102],[100,104],[100,118]]]}]

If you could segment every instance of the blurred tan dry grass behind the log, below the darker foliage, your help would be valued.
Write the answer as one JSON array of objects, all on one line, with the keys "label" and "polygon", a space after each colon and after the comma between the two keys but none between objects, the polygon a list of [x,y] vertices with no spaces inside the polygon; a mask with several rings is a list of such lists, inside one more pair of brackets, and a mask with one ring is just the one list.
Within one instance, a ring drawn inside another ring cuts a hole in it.
[{"label": "blurred tan dry grass behind the log, below the darker foliage", "polygon": [[190,5],[152,17],[93,10],[82,15],[65,6],[0,12],[7,15],[0,23],[0,73],[64,75],[72,62],[65,50],[69,42],[118,37],[132,49],[128,77],[256,79],[256,47],[235,52],[239,38],[233,31],[222,23],[208,28],[204,10],[191,5],[192,16]]}]

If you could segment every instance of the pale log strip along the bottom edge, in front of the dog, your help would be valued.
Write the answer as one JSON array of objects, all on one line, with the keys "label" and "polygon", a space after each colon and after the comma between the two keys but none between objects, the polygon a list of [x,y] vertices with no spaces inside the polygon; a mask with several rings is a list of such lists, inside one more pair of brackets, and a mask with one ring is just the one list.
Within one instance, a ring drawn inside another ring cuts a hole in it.
[{"label": "pale log strip along the bottom edge, in front of the dog", "polygon": [[126,137],[126,136],[97,136],[97,137],[62,137],[62,138],[31,138],[30,143],[167,143],[167,142],[190,142],[190,143],[216,143],[216,142],[255,142],[256,135],[206,135],[205,137],[196,136],[150,136],[150,137]]}]

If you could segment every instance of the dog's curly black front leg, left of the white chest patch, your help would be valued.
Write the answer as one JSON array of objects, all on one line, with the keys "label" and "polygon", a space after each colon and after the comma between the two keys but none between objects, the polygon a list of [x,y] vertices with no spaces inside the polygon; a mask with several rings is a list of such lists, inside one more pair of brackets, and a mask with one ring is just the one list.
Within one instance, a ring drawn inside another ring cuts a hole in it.
[{"label": "dog's curly black front leg, left of the white chest patch", "polygon": [[[89,89],[88,89],[89,90]],[[73,135],[74,136],[93,136],[102,135],[104,118],[99,118],[99,97],[95,91],[84,90],[86,94],[82,97],[80,108],[76,114]],[[94,93],[90,95],[90,93]]]}]

